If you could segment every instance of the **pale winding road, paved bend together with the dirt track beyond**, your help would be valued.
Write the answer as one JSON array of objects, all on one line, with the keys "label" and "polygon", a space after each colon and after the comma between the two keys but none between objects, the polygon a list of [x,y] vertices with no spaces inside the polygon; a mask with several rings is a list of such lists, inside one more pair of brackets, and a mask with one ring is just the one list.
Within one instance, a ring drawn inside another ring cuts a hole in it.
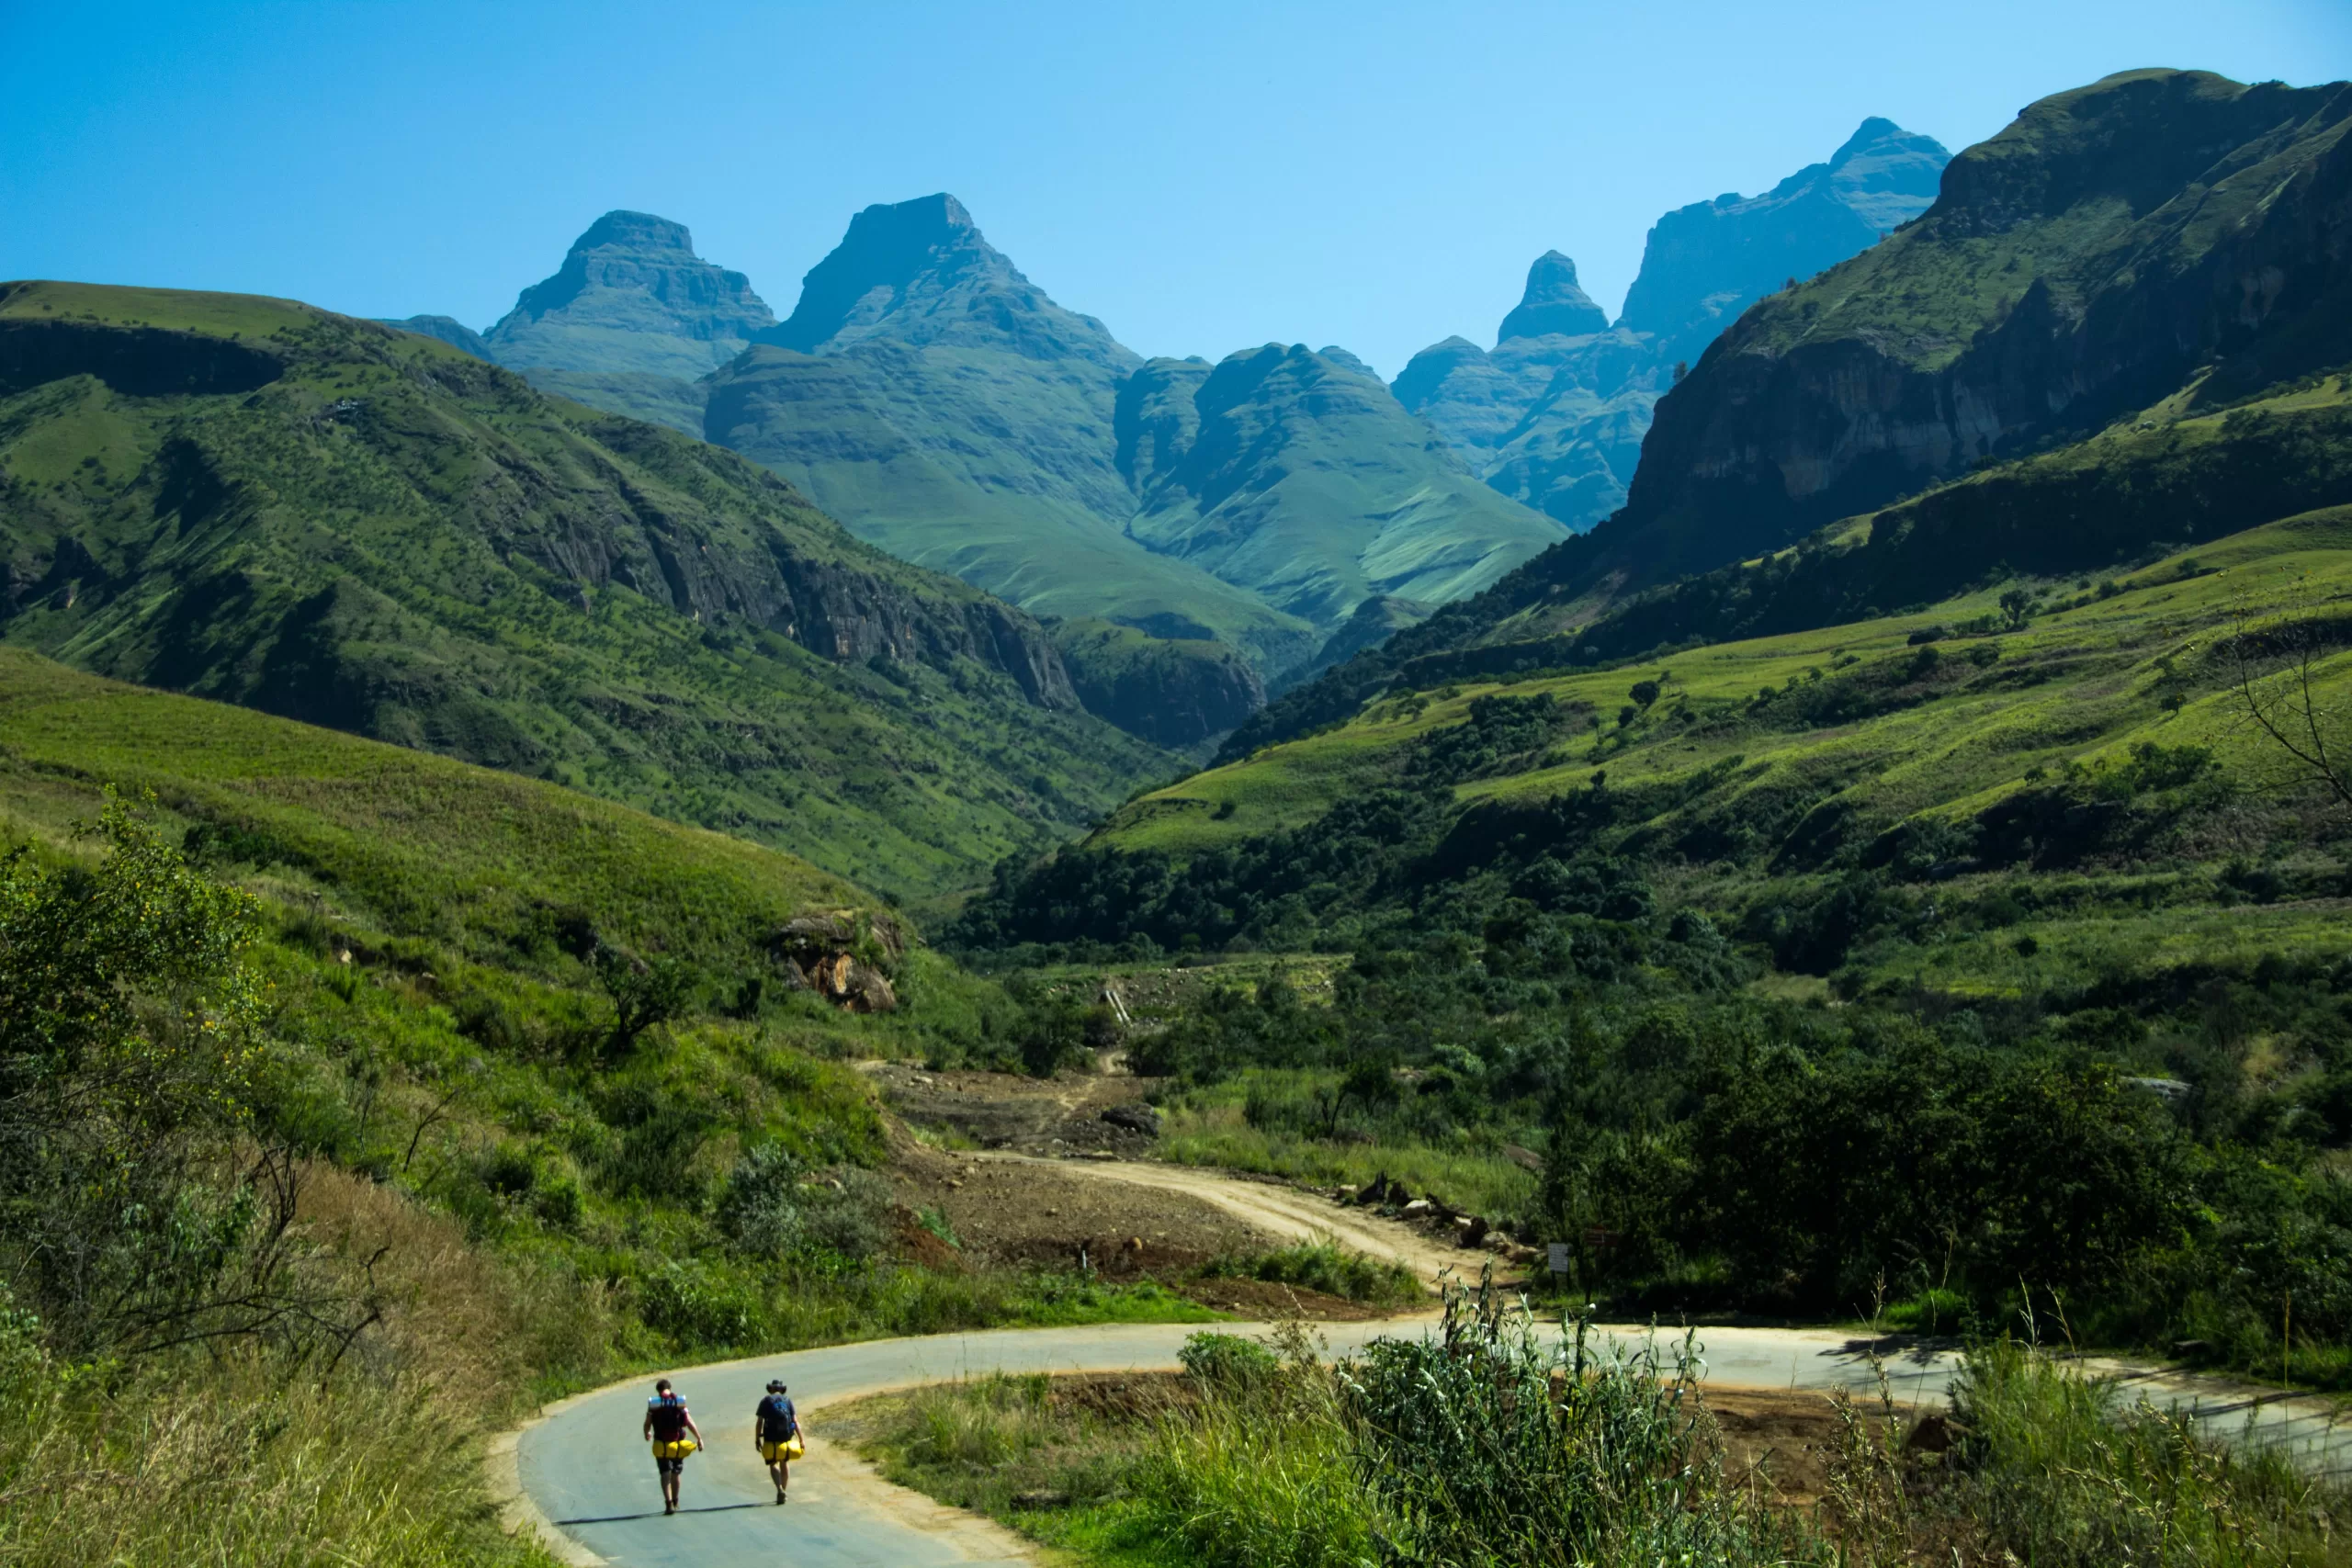
[{"label": "pale winding road, paved bend together with the dirt track beyond", "polygon": [[[1028,1159],[983,1154],[976,1159]],[[1188,1166],[1124,1161],[1047,1161],[1105,1182],[1200,1197],[1244,1222],[1291,1239],[1329,1234],[1343,1246],[1395,1258],[1423,1279],[1442,1269],[1475,1274],[1482,1253],[1444,1248],[1409,1225],[1341,1208],[1310,1192],[1237,1180]],[[1334,1354],[1381,1335],[1425,1333],[1432,1319],[1319,1324]],[[1265,1335],[1263,1324],[1228,1333]],[[1002,1526],[950,1509],[882,1481],[854,1453],[826,1441],[826,1406],[891,1389],[985,1373],[1171,1371],[1195,1324],[1115,1324],[1096,1328],[1009,1328],[802,1349],[673,1371],[710,1446],[687,1465],[684,1512],[661,1514],[654,1467],[637,1441],[654,1375],[550,1406],[517,1434],[492,1446],[489,1469],[506,1497],[510,1528],[536,1528],[569,1563],[593,1568],[687,1568],[788,1554],[795,1568],[946,1568],[953,1563],[1035,1563],[1030,1547]],[[1672,1331],[1668,1331],[1670,1335]],[[1637,1345],[1644,1328],[1616,1326],[1604,1342]],[[1668,1338],[1661,1335],[1661,1338]],[[1703,1378],[1715,1387],[1856,1389],[1877,1387],[1879,1368],[1863,1338],[1828,1328],[1705,1328]],[[1945,1399],[1959,1366],[1950,1347],[1891,1352],[1884,1363],[1896,1399]],[[2352,1427],[2338,1427],[2326,1401],[2281,1399],[2251,1385],[2185,1378],[2093,1361],[2117,1378],[2124,1396],[2190,1410],[2216,1439],[2286,1448],[2300,1465],[2331,1474],[2352,1469]],[[809,1434],[809,1458],[795,1467],[793,1502],[774,1507],[767,1469],[750,1443],[750,1413],[769,1378],[793,1387]]]}]

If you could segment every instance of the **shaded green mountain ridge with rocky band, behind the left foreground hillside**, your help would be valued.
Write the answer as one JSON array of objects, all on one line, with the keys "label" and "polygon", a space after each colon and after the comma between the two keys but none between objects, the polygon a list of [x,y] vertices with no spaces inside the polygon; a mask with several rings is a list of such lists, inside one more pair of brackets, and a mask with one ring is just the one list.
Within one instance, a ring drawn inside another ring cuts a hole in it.
[{"label": "shaded green mountain ridge with rocky band, behind the left foreground hillside", "polygon": [[894,893],[1160,773],[1044,628],[734,454],[287,301],[0,294],[0,637]]}]

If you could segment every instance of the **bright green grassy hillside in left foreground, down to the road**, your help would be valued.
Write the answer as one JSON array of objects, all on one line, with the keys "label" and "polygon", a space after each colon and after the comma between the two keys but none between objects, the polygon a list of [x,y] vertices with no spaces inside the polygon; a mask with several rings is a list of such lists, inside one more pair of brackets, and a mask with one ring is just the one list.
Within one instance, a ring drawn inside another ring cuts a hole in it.
[{"label": "bright green grassy hillside in left foreground, down to the road", "polygon": [[[7,1561],[541,1566],[480,1439],[553,1394],[1195,1314],[913,1262],[842,1058],[1023,1013],[793,856],[21,649],[0,846]],[[896,1011],[797,987],[795,917]]]}]

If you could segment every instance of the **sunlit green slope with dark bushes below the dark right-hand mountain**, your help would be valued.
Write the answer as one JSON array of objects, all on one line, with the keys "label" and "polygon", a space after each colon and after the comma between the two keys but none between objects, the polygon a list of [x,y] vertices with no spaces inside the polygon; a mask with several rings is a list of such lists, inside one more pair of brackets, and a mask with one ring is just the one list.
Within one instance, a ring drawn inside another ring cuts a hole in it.
[{"label": "sunlit green slope with dark bushes below the dark right-hand mountain", "polygon": [[2343,715],[2347,599],[2352,508],[2333,508],[2098,590],[2011,581],[1501,684],[1402,672],[1338,729],[1000,872],[962,938],[1345,950],[1416,910],[1472,931],[1693,910],[1853,987],[2336,961],[2352,818],[2246,722],[2232,628],[2256,651],[2284,625],[2319,637],[2314,696]]}]

